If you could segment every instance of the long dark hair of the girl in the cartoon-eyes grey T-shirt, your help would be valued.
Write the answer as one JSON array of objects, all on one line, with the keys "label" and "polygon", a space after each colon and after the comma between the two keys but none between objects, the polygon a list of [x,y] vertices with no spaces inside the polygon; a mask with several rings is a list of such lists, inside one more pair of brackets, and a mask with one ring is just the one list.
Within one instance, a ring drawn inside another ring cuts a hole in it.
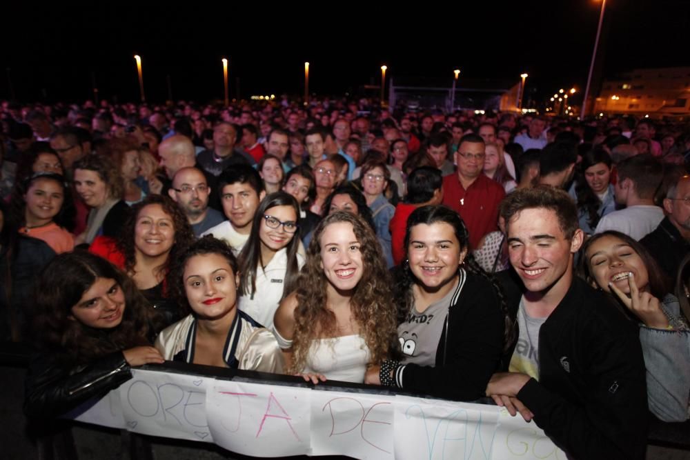
[{"label": "long dark hair of the girl in the cartoon-eyes grey T-shirt", "polygon": [[[453,228],[455,238],[460,243],[461,250],[464,248],[469,249],[469,232],[465,226],[465,223],[462,221],[462,218],[460,218],[460,214],[457,214],[457,212],[451,208],[447,208],[446,206],[422,206],[421,208],[415,209],[407,219],[404,240],[405,259],[407,259],[411,230],[414,226],[422,223],[426,225],[431,225],[433,223],[449,224],[449,226]],[[475,261],[472,253],[469,251],[465,256],[463,266],[468,272],[483,277],[489,281],[489,283],[491,283],[491,286],[493,286],[493,290],[499,301],[499,307],[503,312],[504,317],[504,350],[508,350],[515,341],[515,327],[508,312],[508,307],[506,306],[506,301],[500,286],[498,286],[498,283],[493,276],[482,270],[477,261]],[[417,279],[415,278],[415,275],[413,274],[408,263],[404,263],[404,265],[395,269],[393,295],[398,303],[398,323],[402,323],[408,312],[410,312],[411,308],[413,308],[414,294],[412,291],[412,286],[416,282]]]}]

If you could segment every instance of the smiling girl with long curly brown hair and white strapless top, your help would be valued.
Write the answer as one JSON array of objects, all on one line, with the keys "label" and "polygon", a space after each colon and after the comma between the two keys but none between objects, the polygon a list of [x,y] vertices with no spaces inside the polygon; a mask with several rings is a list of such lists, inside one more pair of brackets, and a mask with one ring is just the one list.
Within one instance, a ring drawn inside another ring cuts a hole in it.
[{"label": "smiling girl with long curly brown hair and white strapless top", "polygon": [[275,313],[288,372],[362,383],[397,349],[388,270],[370,226],[350,212],[317,226],[297,290]]}]

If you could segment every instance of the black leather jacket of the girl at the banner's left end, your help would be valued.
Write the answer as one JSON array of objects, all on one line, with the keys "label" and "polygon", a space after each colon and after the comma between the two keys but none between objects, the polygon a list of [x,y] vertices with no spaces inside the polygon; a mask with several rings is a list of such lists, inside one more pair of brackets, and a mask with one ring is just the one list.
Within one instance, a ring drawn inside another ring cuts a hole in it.
[{"label": "black leather jacket of the girl at the banner's left end", "polygon": [[57,354],[37,354],[26,375],[24,412],[32,418],[57,417],[131,378],[122,352],[106,354],[86,366],[70,366]]}]

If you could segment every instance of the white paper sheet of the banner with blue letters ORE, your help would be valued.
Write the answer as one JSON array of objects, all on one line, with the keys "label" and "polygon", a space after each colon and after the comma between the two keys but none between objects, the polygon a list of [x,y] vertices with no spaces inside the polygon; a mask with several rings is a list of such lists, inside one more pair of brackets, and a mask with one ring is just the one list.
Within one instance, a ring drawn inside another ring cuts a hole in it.
[{"label": "white paper sheet of the banner with blue letters ORE", "polygon": [[213,442],[206,423],[204,377],[132,370],[119,388],[127,429],[152,436]]}]

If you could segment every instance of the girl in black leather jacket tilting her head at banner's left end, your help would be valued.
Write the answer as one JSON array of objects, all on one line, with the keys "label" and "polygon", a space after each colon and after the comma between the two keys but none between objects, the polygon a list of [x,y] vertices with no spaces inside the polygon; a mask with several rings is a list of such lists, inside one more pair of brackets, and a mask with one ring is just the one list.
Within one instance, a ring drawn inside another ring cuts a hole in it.
[{"label": "girl in black leather jacket tilting her head at banner's left end", "polygon": [[132,378],[133,366],[163,362],[150,346],[157,315],[108,261],[79,250],[61,254],[41,272],[36,292],[39,353],[24,404],[30,417],[68,412]]}]

